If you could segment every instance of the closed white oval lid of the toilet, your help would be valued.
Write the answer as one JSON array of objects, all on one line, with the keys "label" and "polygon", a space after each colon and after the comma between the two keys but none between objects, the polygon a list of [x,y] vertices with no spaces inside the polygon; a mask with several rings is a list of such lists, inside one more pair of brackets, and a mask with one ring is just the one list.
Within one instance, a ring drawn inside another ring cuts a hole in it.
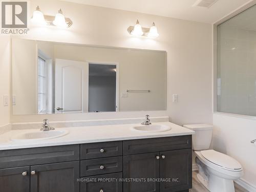
[{"label": "closed white oval lid of the toilet", "polygon": [[242,168],[241,164],[237,160],[223,153],[214,150],[205,150],[201,151],[201,154],[208,161],[222,166],[225,169],[237,170]]}]

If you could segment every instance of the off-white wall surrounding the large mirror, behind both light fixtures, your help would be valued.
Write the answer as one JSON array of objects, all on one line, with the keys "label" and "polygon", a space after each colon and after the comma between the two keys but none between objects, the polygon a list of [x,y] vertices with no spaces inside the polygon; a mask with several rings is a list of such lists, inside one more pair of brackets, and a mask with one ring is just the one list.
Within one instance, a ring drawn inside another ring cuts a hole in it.
[{"label": "off-white wall surrounding the large mirror, behind both light fixtures", "polygon": [[[210,24],[50,0],[31,1],[31,14],[37,5],[50,15],[61,7],[73,26],[67,30],[30,26],[25,38],[167,51],[167,111],[11,116],[12,122],[142,117],[148,113],[169,115],[178,124],[212,123]],[[129,35],[127,27],[137,18],[144,27],[154,21],[160,36],[150,39]],[[172,102],[172,94],[179,94],[178,103]]]}]

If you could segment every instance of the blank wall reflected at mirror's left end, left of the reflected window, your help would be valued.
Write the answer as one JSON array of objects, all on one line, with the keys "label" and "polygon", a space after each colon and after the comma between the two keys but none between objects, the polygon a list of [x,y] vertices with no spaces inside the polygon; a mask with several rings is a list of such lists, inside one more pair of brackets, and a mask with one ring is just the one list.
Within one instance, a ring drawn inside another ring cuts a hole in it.
[{"label": "blank wall reflected at mirror's left end, left of the reflected window", "polygon": [[13,114],[37,114],[36,41],[12,39]]}]

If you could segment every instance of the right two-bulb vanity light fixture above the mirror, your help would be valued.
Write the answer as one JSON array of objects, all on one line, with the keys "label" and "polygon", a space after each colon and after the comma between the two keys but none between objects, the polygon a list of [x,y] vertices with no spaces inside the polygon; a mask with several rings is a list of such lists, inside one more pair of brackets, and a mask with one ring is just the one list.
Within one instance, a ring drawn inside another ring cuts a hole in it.
[{"label": "right two-bulb vanity light fixture above the mirror", "polygon": [[135,36],[148,36],[148,37],[158,37],[159,36],[157,27],[154,22],[153,22],[153,25],[151,28],[145,28],[145,27],[141,27],[138,19],[137,19],[136,25],[130,26],[127,29],[127,31],[129,32],[129,34],[135,35]]}]

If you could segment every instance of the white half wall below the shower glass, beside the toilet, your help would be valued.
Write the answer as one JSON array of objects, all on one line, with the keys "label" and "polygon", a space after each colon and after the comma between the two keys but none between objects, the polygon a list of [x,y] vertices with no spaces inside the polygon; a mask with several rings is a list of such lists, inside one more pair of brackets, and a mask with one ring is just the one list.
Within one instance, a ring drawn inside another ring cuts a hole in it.
[{"label": "white half wall below the shower glass, beside the toilet", "polygon": [[242,180],[256,188],[256,119],[214,114],[214,149],[238,160],[244,169]]}]

